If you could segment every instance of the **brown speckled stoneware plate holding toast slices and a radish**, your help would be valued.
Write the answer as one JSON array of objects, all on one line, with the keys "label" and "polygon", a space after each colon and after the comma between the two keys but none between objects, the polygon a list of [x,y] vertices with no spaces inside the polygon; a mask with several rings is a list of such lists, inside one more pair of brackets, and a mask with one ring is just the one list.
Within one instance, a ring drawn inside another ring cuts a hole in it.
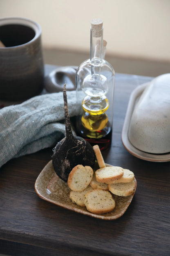
[{"label": "brown speckled stoneware plate holding toast slices and a radish", "polygon": [[[111,165],[106,164],[106,166]],[[134,181],[136,191],[136,179],[134,179]],[[71,199],[69,199],[70,189],[67,183],[62,181],[56,175],[52,166],[52,160],[47,163],[47,165],[44,167],[44,169],[42,169],[38,178],[36,179],[35,190],[41,199],[44,199],[50,203],[54,203],[63,208],[73,210],[77,213],[81,213],[98,219],[107,220],[118,219],[119,217],[121,217],[127,210],[134,196],[134,194],[128,197],[119,197],[113,195],[113,198],[116,202],[114,210],[112,210],[110,213],[104,214],[90,213],[85,207],[78,206],[73,203]]]}]

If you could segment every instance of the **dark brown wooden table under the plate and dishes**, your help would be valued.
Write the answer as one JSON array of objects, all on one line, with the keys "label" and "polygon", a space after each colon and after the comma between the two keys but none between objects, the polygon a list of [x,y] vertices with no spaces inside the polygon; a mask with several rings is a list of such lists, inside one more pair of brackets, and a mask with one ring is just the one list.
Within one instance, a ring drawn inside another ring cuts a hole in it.
[{"label": "dark brown wooden table under the plate and dishes", "polygon": [[[46,72],[54,66],[46,66]],[[51,160],[45,149],[0,169],[0,253],[17,256],[168,256],[170,162],[147,162],[126,151],[121,131],[132,90],[152,78],[116,74],[114,130],[105,162],[132,170],[137,190],[119,219],[106,221],[40,199],[34,184]]]}]

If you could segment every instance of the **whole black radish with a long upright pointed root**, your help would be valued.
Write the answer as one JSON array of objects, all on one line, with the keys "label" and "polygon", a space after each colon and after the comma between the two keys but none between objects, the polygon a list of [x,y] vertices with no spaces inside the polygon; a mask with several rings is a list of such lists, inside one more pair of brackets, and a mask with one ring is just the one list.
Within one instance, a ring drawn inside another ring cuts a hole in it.
[{"label": "whole black radish with a long upright pointed root", "polygon": [[53,149],[52,163],[56,174],[65,182],[70,171],[76,165],[94,167],[95,154],[92,146],[85,139],[74,136],[69,119],[66,85],[63,89],[66,137]]}]

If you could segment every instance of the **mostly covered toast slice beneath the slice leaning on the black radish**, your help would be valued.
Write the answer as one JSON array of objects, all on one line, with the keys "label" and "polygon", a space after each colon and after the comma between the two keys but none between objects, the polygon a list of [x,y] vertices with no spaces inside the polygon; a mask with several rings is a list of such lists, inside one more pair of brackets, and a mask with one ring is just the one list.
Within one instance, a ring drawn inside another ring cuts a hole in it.
[{"label": "mostly covered toast slice beneath the slice leaning on the black radish", "polygon": [[69,198],[73,203],[76,203],[78,206],[85,207],[85,194],[93,190],[91,186],[88,186],[83,191],[70,191]]}]

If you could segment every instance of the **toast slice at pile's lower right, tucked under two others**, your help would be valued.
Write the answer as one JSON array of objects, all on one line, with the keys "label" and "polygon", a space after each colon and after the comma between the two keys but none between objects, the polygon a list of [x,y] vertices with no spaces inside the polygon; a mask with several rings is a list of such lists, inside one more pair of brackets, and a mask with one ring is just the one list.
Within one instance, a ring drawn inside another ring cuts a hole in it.
[{"label": "toast slice at pile's lower right, tucked under two others", "polygon": [[119,197],[127,197],[134,193],[135,182],[109,184],[109,190]]}]

